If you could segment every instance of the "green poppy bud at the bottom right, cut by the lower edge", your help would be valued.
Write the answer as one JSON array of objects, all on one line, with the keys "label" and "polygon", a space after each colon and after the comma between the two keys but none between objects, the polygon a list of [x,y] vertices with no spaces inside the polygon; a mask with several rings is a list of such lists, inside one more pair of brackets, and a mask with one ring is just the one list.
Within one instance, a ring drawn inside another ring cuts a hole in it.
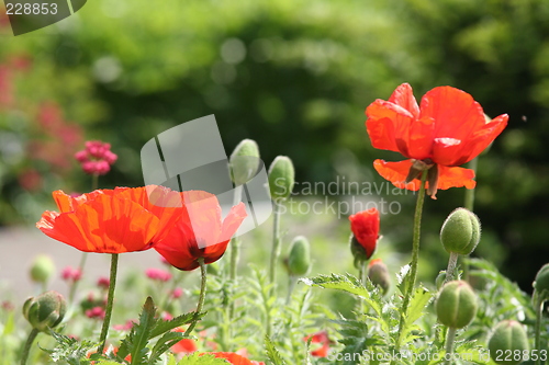
[{"label": "green poppy bud at the bottom right, cut by the lower edge", "polygon": [[504,320],[495,327],[488,347],[494,363],[519,364],[526,360],[525,352],[529,351],[528,337],[519,322]]}]

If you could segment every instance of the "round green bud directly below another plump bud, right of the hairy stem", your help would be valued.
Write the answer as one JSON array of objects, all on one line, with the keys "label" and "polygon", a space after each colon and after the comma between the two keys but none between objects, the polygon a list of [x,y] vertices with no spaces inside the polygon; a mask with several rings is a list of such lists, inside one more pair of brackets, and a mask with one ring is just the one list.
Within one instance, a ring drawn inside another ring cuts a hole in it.
[{"label": "round green bud directly below another plump bud, right of the hairy stem", "polygon": [[442,286],[435,307],[440,323],[460,329],[477,315],[477,296],[467,282],[448,282]]}]

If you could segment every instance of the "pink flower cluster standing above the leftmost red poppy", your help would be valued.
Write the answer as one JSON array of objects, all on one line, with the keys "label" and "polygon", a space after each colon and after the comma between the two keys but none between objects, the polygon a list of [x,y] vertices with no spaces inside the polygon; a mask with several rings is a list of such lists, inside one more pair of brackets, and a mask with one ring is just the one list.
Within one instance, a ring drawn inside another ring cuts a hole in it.
[{"label": "pink flower cluster standing above the leftmost red poppy", "polygon": [[88,140],[86,148],[75,153],[75,159],[80,162],[83,172],[91,175],[107,174],[117,158],[111,152],[111,145],[100,140]]}]

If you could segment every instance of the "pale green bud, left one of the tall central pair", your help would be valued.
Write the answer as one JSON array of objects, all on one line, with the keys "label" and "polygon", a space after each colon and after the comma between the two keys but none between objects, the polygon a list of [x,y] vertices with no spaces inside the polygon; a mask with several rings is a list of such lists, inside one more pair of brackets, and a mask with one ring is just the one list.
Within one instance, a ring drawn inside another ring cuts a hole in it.
[{"label": "pale green bud, left one of the tall central pair", "polygon": [[257,174],[259,170],[259,147],[253,139],[244,139],[231,155],[231,179],[235,185],[244,185]]}]

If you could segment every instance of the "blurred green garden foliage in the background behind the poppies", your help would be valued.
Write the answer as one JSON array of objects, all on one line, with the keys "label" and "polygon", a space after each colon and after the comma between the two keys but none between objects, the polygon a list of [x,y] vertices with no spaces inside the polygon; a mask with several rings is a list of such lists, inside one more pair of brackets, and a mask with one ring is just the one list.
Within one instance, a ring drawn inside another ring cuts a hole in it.
[{"label": "blurred green garden foliage in the background behind the poppies", "polygon": [[[489,115],[511,115],[479,161],[475,254],[526,290],[549,261],[546,0],[92,0],[18,37],[0,20],[0,226],[34,224],[54,190],[89,190],[72,158],[85,140],[111,142],[119,155],[100,186],[137,186],[142,146],[209,114],[227,155],[253,138],[267,164],[292,158],[298,182],[380,184],[373,159],[402,158],[371,147],[366,106],[402,82],[417,99],[449,84]],[[441,191],[426,204],[425,277],[446,267],[438,231],[463,194]],[[382,218],[391,242],[382,253],[407,258],[415,198],[385,198],[402,212]],[[284,224],[334,238],[322,260],[348,237],[346,217]]]}]

